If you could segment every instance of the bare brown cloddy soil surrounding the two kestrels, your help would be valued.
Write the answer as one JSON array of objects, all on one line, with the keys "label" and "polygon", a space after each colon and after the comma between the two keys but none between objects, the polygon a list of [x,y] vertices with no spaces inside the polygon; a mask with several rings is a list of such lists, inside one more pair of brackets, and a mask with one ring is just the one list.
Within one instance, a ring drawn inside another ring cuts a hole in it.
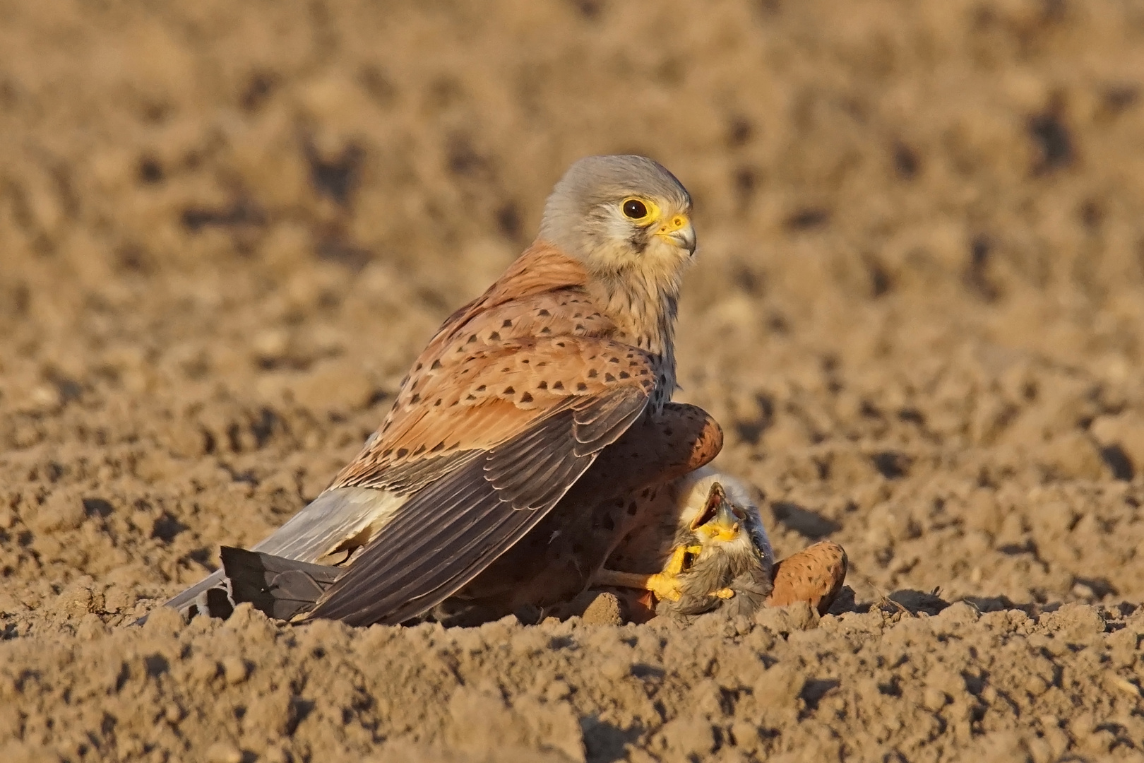
[{"label": "bare brown cloddy soil surrounding the two kestrels", "polygon": [[[1142,72],[1113,0],[3,0],[0,758],[1144,761]],[[617,151],[696,199],[680,397],[852,598],[125,627]]]}]

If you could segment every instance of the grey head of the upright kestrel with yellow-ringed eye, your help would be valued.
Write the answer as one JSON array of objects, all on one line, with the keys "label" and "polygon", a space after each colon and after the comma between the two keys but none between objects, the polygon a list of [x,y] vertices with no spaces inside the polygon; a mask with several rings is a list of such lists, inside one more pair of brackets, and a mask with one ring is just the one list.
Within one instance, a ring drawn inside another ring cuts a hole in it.
[{"label": "grey head of the upright kestrel with yellow-ringed eye", "polygon": [[696,253],[691,196],[646,157],[587,157],[553,189],[539,238],[597,276],[674,277]]}]

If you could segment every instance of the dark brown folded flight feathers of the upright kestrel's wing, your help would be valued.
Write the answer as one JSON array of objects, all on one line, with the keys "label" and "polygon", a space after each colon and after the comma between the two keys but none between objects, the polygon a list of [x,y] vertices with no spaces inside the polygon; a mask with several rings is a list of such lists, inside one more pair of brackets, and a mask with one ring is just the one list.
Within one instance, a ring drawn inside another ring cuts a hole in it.
[{"label": "dark brown folded flight feathers of the upright kestrel's wing", "polygon": [[[573,403],[413,495],[311,617],[397,623],[440,603],[534,527],[648,396],[622,389]],[[604,426],[580,429],[578,419]]]}]

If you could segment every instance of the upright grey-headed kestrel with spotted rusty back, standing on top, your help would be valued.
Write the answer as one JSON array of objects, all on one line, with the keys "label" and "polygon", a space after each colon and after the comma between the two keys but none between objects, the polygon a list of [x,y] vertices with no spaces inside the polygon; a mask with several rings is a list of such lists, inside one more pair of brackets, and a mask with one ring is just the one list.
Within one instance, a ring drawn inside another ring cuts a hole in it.
[{"label": "upright grey-headed kestrel with spotted rusty back, standing on top", "polygon": [[[554,510],[567,517],[570,502],[595,506],[631,487],[577,490],[604,485],[594,463],[614,470],[609,448],[634,424],[662,421],[680,285],[696,251],[690,215],[688,191],[651,159],[572,165],[537,240],[446,319],[364,450],[254,547],[303,563],[350,559],[310,617],[422,615]],[[222,579],[167,604],[225,598]]]}]

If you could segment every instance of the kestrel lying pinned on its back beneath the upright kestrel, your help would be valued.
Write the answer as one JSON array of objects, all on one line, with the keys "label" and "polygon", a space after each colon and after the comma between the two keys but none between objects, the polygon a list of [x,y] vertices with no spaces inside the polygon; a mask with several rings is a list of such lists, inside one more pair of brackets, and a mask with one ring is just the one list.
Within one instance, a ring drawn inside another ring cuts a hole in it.
[{"label": "kestrel lying pinned on its back beneath the upright kestrel", "polygon": [[[464,626],[510,613],[563,617],[578,611],[578,594],[589,586],[620,594],[637,621],[714,610],[750,615],[796,602],[825,614],[845,581],[845,551],[820,541],[772,564],[746,487],[708,467],[691,470],[721,445],[707,414],[669,404],[661,421],[629,429],[597,462],[602,468],[570,491],[561,503],[566,517],[546,517],[429,617]],[[222,559],[229,595],[219,613],[251,602],[270,617],[304,619],[342,574],[225,547]]]}]

